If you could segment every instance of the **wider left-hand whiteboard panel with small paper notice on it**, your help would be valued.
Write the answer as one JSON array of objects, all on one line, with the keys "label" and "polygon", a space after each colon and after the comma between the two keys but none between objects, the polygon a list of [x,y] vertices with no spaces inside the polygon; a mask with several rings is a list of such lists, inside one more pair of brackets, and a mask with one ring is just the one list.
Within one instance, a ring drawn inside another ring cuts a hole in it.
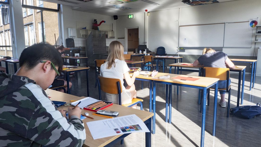
[{"label": "wider left-hand whiteboard panel with small paper notice on it", "polygon": [[224,24],[180,26],[179,47],[223,47]]}]

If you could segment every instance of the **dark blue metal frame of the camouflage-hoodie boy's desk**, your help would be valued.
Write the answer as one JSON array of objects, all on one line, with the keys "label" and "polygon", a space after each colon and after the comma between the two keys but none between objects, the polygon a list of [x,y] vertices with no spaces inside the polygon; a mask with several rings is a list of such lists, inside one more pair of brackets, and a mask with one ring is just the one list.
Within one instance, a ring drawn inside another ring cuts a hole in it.
[{"label": "dark blue metal frame of the camouflage-hoodie boy's desk", "polygon": [[[144,121],[145,125],[148,127],[149,130],[151,130],[151,118],[147,119],[146,121]],[[124,139],[126,136],[128,136],[131,133],[128,134],[123,134],[120,137],[118,137],[117,139],[113,140],[112,142],[110,142],[109,144],[105,145],[107,146],[113,146],[114,144],[116,144],[117,142],[121,141],[122,139]],[[145,133],[145,143],[146,143],[146,147],[150,147],[151,146],[151,132],[146,132]]]}]

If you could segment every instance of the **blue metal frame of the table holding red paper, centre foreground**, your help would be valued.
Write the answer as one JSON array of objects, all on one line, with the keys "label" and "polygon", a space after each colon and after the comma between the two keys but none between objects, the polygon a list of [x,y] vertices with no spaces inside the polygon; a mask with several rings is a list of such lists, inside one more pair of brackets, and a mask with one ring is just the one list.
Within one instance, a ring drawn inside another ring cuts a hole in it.
[{"label": "blue metal frame of the table holding red paper, centre foreground", "polygon": [[[153,79],[152,79],[153,80]],[[172,82],[163,82],[163,81],[155,81],[153,80],[153,117],[152,117],[152,134],[155,134],[155,113],[156,113],[156,83],[168,84],[169,85],[169,99],[168,99],[168,106],[169,106],[169,123],[171,123],[171,87],[172,85],[176,86],[183,86],[183,87],[190,87],[190,88],[198,88],[203,89],[203,108],[202,108],[202,116],[201,116],[201,139],[200,139],[200,146],[204,146],[204,134],[205,134],[205,120],[206,120],[206,93],[207,88],[215,85],[215,96],[214,96],[214,112],[213,112],[213,128],[212,128],[212,136],[215,136],[216,132],[216,115],[217,115],[217,91],[218,91],[218,81],[212,83],[208,87],[200,87],[200,86],[192,86],[186,84],[179,84],[179,83],[172,83]],[[167,100],[166,100],[167,101]]]}]

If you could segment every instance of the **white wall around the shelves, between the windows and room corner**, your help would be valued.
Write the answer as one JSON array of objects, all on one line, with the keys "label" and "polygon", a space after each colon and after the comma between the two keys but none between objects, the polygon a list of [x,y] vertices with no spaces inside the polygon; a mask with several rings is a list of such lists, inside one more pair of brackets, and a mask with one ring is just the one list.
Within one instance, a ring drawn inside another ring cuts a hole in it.
[{"label": "white wall around the shelves, between the windows and room corner", "polygon": [[[67,28],[80,28],[79,24],[84,24],[86,22],[85,26],[86,29],[92,29],[92,23],[93,20],[97,19],[97,22],[99,23],[102,20],[105,20],[105,23],[102,23],[102,25],[99,26],[100,30],[101,28],[104,28],[104,26],[111,26],[113,24],[113,30],[116,34],[116,21],[113,19],[113,16],[108,15],[102,15],[102,14],[94,14],[94,13],[88,13],[83,11],[77,11],[72,10],[71,6],[68,5],[62,5],[61,8],[61,21],[62,21],[62,42],[63,45],[66,46],[66,38],[68,38],[67,34]],[[111,27],[108,28],[106,31],[111,31]],[[115,36],[116,38],[116,36]],[[85,39],[86,38],[74,38],[75,47],[79,46],[85,46]],[[111,41],[114,41],[115,39],[106,39],[106,45],[109,45]]]}]

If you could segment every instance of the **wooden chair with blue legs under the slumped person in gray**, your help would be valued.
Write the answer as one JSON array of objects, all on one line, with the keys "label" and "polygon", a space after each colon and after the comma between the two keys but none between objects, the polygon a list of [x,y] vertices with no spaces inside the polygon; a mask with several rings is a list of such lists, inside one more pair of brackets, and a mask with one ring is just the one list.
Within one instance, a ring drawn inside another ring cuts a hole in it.
[{"label": "wooden chair with blue legs under the slumped person in gray", "polygon": [[[229,85],[229,68],[216,68],[216,67],[204,67],[203,71],[204,77],[210,78],[219,78],[219,80],[227,80],[227,86],[223,89],[218,89],[218,91],[228,92],[228,108],[227,108],[227,117],[229,117],[229,108],[230,108],[230,95],[231,95],[231,85]],[[207,105],[209,106],[209,93],[215,91],[215,88],[207,89]],[[202,105],[202,102],[201,102]]]}]

